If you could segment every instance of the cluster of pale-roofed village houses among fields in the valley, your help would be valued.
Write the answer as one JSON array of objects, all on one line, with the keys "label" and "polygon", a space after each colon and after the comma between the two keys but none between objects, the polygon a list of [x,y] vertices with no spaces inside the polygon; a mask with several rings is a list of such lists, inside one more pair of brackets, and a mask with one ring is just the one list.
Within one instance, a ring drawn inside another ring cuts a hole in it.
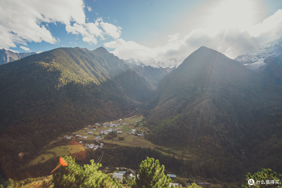
[{"label": "cluster of pale-roofed village houses among fields in the valley", "polygon": [[[154,147],[149,141],[141,139],[150,130],[142,125],[143,116],[132,116],[111,122],[94,123],[83,129],[63,136],[63,139],[74,140],[84,149],[103,148],[105,143]],[[59,138],[60,139],[60,138]]]}]

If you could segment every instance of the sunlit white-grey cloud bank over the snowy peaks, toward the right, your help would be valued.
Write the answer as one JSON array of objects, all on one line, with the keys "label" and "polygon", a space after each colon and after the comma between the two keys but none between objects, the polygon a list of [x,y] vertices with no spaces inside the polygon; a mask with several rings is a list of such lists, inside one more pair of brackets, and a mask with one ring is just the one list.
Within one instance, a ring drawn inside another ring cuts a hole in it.
[{"label": "sunlit white-grey cloud bank over the snowy peaks, toward the right", "polygon": [[[104,46],[112,48],[112,53],[122,59],[151,56],[158,61],[187,57],[201,46],[215,49],[233,59],[282,36],[282,10],[257,21],[254,16],[257,13],[252,14],[254,8],[251,7],[256,1],[244,3],[245,1],[240,0],[239,4],[230,0],[217,2],[219,3],[216,6],[213,5],[204,14],[203,10],[195,11],[193,17],[201,22],[188,25],[189,29],[183,29],[185,32],[178,30],[177,33],[169,35],[168,41],[162,46],[146,47],[123,39],[104,43]],[[236,7],[240,6],[246,7],[241,8],[238,15]]]}]

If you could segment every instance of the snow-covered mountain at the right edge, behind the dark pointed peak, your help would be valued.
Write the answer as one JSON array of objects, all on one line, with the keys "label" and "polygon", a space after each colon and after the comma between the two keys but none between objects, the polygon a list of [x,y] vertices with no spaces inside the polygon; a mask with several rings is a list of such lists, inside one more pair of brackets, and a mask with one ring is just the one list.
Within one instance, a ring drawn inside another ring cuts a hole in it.
[{"label": "snow-covered mountain at the right edge, behind the dark pointed peak", "polygon": [[282,54],[282,37],[262,45],[259,50],[236,57],[235,61],[251,70],[262,72],[280,54]]}]

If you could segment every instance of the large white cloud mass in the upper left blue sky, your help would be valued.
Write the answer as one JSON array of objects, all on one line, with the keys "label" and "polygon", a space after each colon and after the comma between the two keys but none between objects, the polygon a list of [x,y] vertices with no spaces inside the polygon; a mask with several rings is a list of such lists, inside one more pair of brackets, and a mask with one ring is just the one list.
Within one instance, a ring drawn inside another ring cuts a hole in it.
[{"label": "large white cloud mass in the upper left blue sky", "polygon": [[82,35],[82,40],[90,44],[96,44],[98,38],[105,39],[103,36],[114,39],[120,36],[120,27],[101,24],[101,21],[96,27],[94,23],[86,23],[84,8],[83,0],[3,0],[0,6],[0,48],[15,48],[27,45],[27,42],[58,43],[59,39],[48,29],[50,23],[65,24],[68,33]]}]

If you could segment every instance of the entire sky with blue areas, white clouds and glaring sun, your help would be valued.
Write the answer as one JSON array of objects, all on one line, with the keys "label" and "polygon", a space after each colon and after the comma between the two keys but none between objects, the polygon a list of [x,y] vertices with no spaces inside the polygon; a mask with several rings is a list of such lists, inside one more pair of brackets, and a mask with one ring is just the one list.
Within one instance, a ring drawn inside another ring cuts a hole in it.
[{"label": "entire sky with blue areas, white clouds and glaring sun", "polygon": [[230,58],[282,36],[280,0],[0,0],[0,48],[100,46],[128,59],[187,57],[201,46]]}]

